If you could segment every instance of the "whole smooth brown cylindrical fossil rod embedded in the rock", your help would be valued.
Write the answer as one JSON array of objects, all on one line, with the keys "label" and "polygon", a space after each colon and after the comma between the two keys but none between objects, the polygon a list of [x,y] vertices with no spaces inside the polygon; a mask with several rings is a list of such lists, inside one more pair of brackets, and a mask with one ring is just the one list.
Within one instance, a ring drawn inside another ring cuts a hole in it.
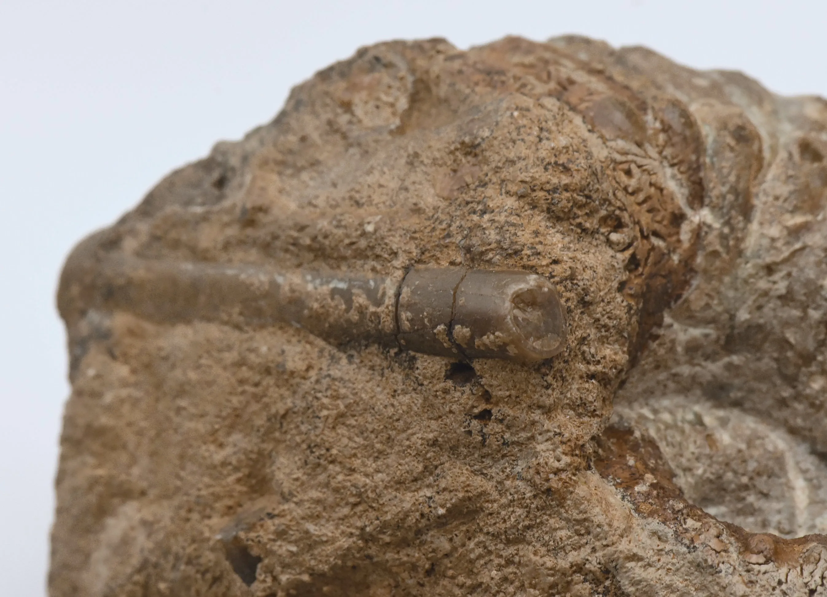
[{"label": "whole smooth brown cylindrical fossil rod embedded in the rock", "polygon": [[107,256],[94,265],[70,259],[61,285],[61,294],[87,310],[157,322],[289,323],[336,346],[370,341],[428,355],[533,362],[566,344],[557,291],[523,271],[447,267],[371,277]]}]

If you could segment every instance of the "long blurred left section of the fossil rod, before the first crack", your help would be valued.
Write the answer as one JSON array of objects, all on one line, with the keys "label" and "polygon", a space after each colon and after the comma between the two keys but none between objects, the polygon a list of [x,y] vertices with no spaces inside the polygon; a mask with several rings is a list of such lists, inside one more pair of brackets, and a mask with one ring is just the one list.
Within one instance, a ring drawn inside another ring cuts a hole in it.
[{"label": "long blurred left section of the fossil rod, before the first crack", "polygon": [[401,273],[394,279],[146,260],[80,246],[66,262],[58,302],[70,324],[77,313],[94,308],[165,323],[289,323],[336,346],[351,341],[396,345],[401,278]]}]

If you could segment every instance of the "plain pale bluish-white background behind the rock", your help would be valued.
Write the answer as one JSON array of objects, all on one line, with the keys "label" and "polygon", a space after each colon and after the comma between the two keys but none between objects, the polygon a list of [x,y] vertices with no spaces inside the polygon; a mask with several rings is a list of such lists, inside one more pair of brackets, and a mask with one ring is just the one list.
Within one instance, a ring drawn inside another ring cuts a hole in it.
[{"label": "plain pale bluish-white background behind the rock", "polygon": [[70,247],[360,45],[576,32],[827,96],[827,2],[0,0],[0,595],[44,595]]}]

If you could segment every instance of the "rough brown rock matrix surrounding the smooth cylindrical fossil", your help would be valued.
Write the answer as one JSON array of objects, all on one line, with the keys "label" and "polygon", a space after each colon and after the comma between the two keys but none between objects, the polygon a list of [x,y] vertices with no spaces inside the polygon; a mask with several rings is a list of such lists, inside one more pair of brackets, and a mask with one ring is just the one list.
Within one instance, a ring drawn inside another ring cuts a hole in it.
[{"label": "rough brown rock matrix surrounding the smooth cylindrical fossil", "polygon": [[[823,99],[585,38],[323,70],[69,258],[51,595],[827,595],[825,155]],[[568,345],[92,308],[116,254],[529,270]]]}]

